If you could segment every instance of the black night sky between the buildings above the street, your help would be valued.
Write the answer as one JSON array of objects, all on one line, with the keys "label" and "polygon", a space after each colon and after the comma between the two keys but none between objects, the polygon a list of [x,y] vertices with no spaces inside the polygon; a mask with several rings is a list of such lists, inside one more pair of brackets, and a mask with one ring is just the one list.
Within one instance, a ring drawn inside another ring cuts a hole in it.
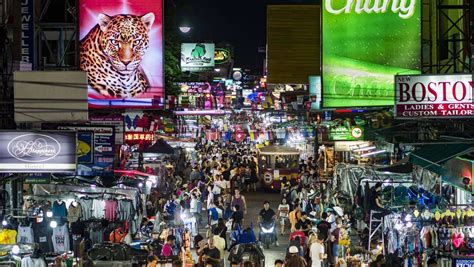
[{"label": "black night sky between the buildings above the street", "polygon": [[[310,4],[318,0],[182,0],[180,19],[192,26],[187,41],[212,41],[234,46],[234,67],[260,74],[266,45],[267,4]],[[182,15],[181,15],[182,14]]]}]

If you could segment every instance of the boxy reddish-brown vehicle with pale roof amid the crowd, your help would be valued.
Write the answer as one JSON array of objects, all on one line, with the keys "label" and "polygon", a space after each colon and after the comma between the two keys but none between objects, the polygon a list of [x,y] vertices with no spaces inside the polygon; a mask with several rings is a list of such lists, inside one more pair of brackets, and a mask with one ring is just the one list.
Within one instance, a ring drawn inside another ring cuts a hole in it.
[{"label": "boxy reddish-brown vehicle with pale roof amid the crowd", "polygon": [[300,151],[271,145],[258,150],[259,178],[264,189],[280,190],[281,180],[298,179]]}]

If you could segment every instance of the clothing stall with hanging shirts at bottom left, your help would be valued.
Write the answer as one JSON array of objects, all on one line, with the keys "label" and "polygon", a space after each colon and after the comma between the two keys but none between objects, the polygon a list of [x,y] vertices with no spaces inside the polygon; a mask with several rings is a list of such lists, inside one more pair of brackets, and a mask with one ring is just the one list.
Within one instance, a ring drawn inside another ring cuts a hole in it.
[{"label": "clothing stall with hanging shirts at bottom left", "polygon": [[130,261],[131,266],[141,253],[127,253],[131,248],[125,244],[140,237],[144,212],[137,189],[36,184],[24,196],[22,211],[2,222],[0,239],[3,244],[37,244],[35,253],[46,262],[58,257],[85,261],[93,251],[104,250],[105,243],[114,244],[114,250],[105,249],[111,253],[106,260]]}]

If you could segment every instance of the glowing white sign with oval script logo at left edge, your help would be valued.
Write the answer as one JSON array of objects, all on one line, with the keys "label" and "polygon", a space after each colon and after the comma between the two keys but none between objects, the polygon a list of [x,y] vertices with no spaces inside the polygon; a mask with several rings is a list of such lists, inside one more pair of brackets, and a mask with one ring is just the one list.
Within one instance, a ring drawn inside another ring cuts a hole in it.
[{"label": "glowing white sign with oval script logo at left edge", "polygon": [[75,132],[0,131],[0,173],[74,172]]}]

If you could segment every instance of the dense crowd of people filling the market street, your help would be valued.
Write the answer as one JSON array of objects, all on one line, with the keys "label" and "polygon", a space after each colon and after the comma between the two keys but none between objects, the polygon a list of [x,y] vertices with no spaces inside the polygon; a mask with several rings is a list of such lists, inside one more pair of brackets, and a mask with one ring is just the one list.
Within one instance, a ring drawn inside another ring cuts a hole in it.
[{"label": "dense crowd of people filling the market street", "polygon": [[[268,234],[262,227],[273,223],[274,227],[269,228],[271,245],[279,246],[279,240],[289,234],[287,256],[277,260],[275,266],[322,266],[328,256],[328,262],[337,262],[338,255],[344,253],[338,245],[343,218],[331,215],[333,221],[328,222],[329,216],[322,204],[324,188],[319,185],[317,159],[301,160],[299,169],[299,180],[282,177],[279,203],[263,203],[257,219],[258,235],[239,238],[262,241],[262,233]],[[194,238],[198,266],[224,266],[225,251],[231,251],[238,243],[232,233],[253,232],[255,222],[247,218],[248,203],[244,195],[257,190],[257,172],[257,151],[249,144],[198,144],[184,167],[168,176],[167,182],[174,184],[174,188],[170,192],[156,190],[151,194],[148,206],[149,213],[156,214],[155,228],[160,222],[177,223],[183,214],[193,216],[201,230]],[[146,228],[147,224],[142,227]],[[171,245],[175,237],[170,235],[166,240],[166,244]],[[173,253],[179,251],[165,245],[157,256],[173,256]]]}]

